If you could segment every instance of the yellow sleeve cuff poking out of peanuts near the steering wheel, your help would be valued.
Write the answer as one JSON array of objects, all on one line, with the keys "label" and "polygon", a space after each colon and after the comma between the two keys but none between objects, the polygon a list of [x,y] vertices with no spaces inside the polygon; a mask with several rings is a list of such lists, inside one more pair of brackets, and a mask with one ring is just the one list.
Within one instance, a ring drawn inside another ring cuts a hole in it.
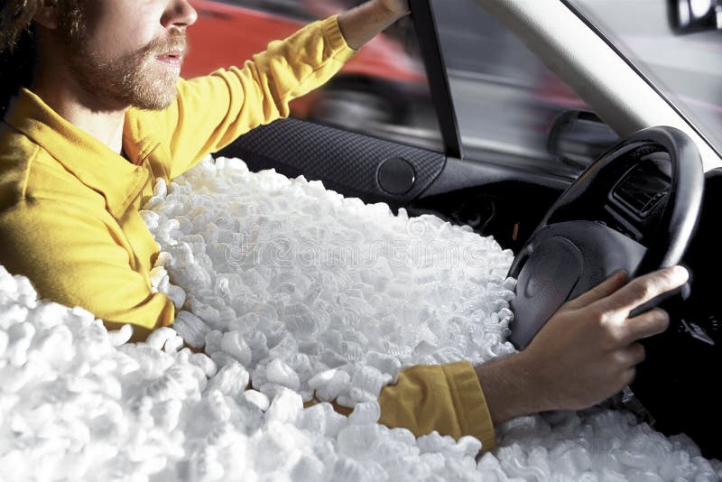
[{"label": "yellow sleeve cuff poking out of peanuts near the steering wheel", "polygon": [[412,366],[379,397],[381,419],[420,437],[438,431],[459,439],[473,435],[482,450],[495,446],[494,425],[474,367],[469,362]]}]

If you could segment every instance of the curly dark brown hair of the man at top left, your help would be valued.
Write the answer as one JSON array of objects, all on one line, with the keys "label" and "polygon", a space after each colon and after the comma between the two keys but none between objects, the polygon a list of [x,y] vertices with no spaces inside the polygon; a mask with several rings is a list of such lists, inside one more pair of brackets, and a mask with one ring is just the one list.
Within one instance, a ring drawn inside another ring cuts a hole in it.
[{"label": "curly dark brown hair of the man at top left", "polygon": [[[37,55],[32,18],[44,0],[0,0],[0,120],[18,90],[32,82]],[[60,27],[79,32],[82,14],[79,0],[55,0]]]}]

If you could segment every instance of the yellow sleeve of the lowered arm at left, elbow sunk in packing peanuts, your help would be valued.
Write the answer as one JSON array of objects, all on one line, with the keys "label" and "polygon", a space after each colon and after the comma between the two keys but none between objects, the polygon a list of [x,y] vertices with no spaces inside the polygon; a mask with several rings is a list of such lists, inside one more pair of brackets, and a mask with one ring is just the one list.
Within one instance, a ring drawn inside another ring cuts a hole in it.
[{"label": "yellow sleeve of the lowered arm at left, elbow sunk in packing peanuts", "polygon": [[[109,329],[132,323],[146,329],[171,324],[172,302],[152,293],[131,268],[128,252],[100,220],[57,199],[21,200],[0,211],[0,262],[27,276],[42,297],[81,306]],[[142,339],[147,330],[136,329]]]}]

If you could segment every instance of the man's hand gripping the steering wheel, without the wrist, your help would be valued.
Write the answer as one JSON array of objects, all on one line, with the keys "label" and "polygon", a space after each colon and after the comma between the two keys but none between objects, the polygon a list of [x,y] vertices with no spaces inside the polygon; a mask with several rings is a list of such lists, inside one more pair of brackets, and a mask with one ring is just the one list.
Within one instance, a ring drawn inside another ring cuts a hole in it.
[{"label": "man's hand gripping the steering wheel, without the wrist", "polygon": [[523,351],[537,372],[538,393],[550,405],[546,410],[581,410],[632,383],[635,366],[644,360],[637,340],[662,333],[670,320],[660,309],[634,318],[630,312],[687,278],[680,266],[627,284],[625,273],[616,273],[563,304]]}]

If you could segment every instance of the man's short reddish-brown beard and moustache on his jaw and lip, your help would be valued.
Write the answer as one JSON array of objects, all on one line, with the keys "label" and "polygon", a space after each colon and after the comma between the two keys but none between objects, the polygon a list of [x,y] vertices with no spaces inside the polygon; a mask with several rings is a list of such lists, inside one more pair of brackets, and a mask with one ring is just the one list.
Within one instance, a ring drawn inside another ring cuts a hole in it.
[{"label": "man's short reddish-brown beard and moustache on his jaw and lip", "polygon": [[179,72],[155,57],[169,51],[185,52],[185,32],[174,31],[166,39],[156,39],[139,51],[115,59],[89,52],[82,34],[72,37],[66,43],[69,66],[80,86],[101,102],[162,110],[175,100]]}]

